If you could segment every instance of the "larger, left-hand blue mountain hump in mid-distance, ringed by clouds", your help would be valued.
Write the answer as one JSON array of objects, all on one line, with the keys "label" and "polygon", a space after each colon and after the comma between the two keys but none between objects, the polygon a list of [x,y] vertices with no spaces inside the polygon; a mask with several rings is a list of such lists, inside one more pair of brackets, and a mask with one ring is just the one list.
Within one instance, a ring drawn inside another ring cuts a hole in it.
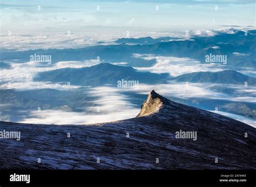
[{"label": "larger, left-hand blue mountain hump in mid-distance, ringed by clouds", "polygon": [[169,74],[140,72],[132,67],[116,66],[100,63],[85,68],[63,68],[39,73],[35,81],[51,81],[83,86],[100,86],[109,84],[117,87],[118,81],[138,81],[138,83],[154,84],[163,81]]}]

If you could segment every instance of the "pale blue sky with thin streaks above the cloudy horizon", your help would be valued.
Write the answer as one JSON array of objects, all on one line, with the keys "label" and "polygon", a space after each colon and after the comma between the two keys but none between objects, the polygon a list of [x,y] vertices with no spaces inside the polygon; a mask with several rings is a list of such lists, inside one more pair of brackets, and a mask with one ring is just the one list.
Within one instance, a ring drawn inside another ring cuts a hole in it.
[{"label": "pale blue sky with thin streaks above the cloudy horizon", "polygon": [[[242,3],[240,3],[242,2]],[[39,7],[40,6],[40,7]],[[1,1],[1,34],[83,32],[93,27],[183,31],[255,26],[254,1]],[[114,29],[114,28],[113,28]]]}]

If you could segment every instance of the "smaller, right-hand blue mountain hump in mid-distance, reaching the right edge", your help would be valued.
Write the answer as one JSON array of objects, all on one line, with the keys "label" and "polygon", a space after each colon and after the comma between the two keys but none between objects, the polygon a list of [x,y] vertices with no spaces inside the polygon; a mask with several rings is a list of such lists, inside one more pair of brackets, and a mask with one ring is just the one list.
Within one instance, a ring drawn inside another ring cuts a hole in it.
[{"label": "smaller, right-hand blue mountain hump in mid-distance, reaching the right edge", "polygon": [[195,72],[184,74],[172,78],[178,82],[193,82],[193,83],[220,83],[220,84],[245,84],[256,85],[256,78],[238,73],[234,70],[224,70],[219,72]]}]

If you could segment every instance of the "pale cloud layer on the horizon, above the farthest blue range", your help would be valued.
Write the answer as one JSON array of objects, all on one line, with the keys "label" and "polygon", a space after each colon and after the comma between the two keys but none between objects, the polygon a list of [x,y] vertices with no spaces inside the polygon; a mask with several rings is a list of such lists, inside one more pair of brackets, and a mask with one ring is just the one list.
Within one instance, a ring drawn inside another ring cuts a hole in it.
[{"label": "pale cloud layer on the horizon, above the farthest blue range", "polygon": [[[106,20],[106,24],[111,24],[111,20]],[[100,29],[99,29],[100,28]],[[80,28],[81,29],[81,28]],[[84,28],[82,29],[84,31]],[[18,51],[26,51],[33,49],[64,49],[64,48],[81,48],[86,46],[98,45],[98,41],[104,43],[100,45],[115,44],[114,41],[119,38],[126,37],[126,29],[120,28],[118,30],[110,29],[109,27],[93,27],[86,28],[83,33],[70,30],[63,33],[47,33],[39,32],[35,34],[19,35],[15,31],[11,32],[11,35],[6,33],[0,33],[0,46],[7,49],[15,49]],[[184,37],[181,32],[151,32],[151,31],[129,31],[130,38],[142,38],[142,37]]]}]

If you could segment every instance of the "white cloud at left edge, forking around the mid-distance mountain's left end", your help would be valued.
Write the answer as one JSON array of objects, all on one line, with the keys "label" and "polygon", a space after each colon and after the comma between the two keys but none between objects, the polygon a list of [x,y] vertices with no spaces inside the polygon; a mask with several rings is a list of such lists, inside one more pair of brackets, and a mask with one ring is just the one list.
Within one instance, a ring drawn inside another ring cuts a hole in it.
[{"label": "white cloud at left edge, forking around the mid-distance mountain's left end", "polygon": [[37,73],[60,68],[82,68],[93,66],[100,61],[86,60],[86,61],[61,61],[56,64],[39,63],[35,61],[17,63],[8,62],[11,69],[0,69],[0,89],[17,89],[17,90],[33,90],[51,88],[57,90],[76,89],[78,86],[52,84],[50,82],[33,82],[33,78]]}]

